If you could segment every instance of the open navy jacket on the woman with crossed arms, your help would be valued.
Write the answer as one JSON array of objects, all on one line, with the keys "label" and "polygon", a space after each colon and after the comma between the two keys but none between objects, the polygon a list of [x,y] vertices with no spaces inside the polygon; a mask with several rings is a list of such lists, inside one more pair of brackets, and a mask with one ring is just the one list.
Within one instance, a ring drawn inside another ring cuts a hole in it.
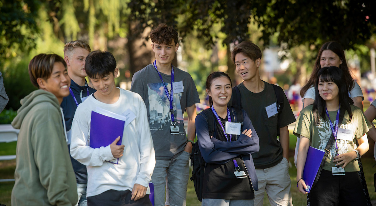
[{"label": "open navy jacket on the woman with crossed arms", "polygon": [[[236,121],[231,108],[230,116],[231,121]],[[252,137],[250,138],[245,134],[240,134],[238,139],[235,141],[223,142],[215,138],[218,132],[222,132],[218,131],[217,129],[215,129],[214,131],[213,138],[210,138],[208,117],[206,117],[205,113],[202,112],[197,115],[195,121],[197,141],[199,142],[200,152],[206,163],[224,164],[236,157],[241,156],[252,182],[253,189],[258,190],[258,179],[256,175],[255,165],[250,154],[259,151],[259,138],[257,136],[255,128],[253,128],[251,120],[244,110],[243,119],[244,127],[242,128],[242,132],[245,129],[250,129],[252,130]],[[216,119],[215,122],[217,122]]]}]

